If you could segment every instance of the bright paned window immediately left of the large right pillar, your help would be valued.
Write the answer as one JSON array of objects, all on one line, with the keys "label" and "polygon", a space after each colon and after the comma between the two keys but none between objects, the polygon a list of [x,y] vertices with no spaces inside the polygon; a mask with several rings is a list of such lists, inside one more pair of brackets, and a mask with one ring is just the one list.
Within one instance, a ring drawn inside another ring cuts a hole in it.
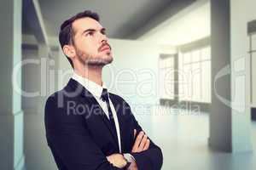
[{"label": "bright paned window immediately left of the large right pillar", "polygon": [[211,48],[180,53],[178,63],[179,100],[211,103]]}]

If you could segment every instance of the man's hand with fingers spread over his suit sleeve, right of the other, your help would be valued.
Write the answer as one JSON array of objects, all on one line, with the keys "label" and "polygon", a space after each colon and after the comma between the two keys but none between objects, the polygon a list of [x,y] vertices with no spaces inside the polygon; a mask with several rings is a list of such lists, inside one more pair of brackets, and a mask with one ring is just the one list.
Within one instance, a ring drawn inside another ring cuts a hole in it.
[{"label": "man's hand with fingers spread over his suit sleeve, right of the other", "polygon": [[[137,130],[134,129],[134,138],[136,138],[136,133],[137,133]],[[132,146],[131,152],[137,153],[144,150],[148,150],[149,144],[150,144],[150,140],[148,139],[147,135],[143,131],[141,131],[137,135],[137,139],[135,140]]]}]

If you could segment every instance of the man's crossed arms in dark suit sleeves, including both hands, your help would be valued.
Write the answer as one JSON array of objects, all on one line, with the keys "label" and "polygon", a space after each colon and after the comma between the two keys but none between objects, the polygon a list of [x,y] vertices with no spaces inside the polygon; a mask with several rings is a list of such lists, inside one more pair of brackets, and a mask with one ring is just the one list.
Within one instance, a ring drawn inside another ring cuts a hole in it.
[{"label": "man's crossed arms in dark suit sleeves, including both hands", "polygon": [[[84,127],[84,119],[79,115],[67,115],[67,111],[55,103],[52,98],[47,101],[44,118],[49,148],[59,169],[123,170],[126,164],[124,156],[113,154],[106,157]],[[136,128],[134,136],[138,135],[130,153],[136,161],[131,163],[129,170],[160,170],[163,159],[160,148],[144,135],[131,116],[132,127]]]}]

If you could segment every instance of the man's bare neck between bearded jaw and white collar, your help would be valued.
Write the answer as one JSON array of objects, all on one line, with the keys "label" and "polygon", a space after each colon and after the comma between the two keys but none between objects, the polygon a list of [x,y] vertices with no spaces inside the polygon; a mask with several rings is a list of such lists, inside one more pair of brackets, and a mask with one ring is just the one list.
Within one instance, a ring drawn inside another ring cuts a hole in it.
[{"label": "man's bare neck between bearded jaw and white collar", "polygon": [[75,68],[74,72],[81,77],[87,78],[92,82],[96,82],[102,86],[102,66],[87,65],[83,69]]}]

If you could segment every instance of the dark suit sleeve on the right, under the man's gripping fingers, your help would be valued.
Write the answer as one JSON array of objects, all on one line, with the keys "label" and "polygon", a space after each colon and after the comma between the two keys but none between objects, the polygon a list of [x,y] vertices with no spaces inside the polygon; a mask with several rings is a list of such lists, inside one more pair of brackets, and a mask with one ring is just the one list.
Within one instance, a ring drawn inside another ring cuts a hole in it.
[{"label": "dark suit sleeve on the right, under the man's gripping fingers", "polygon": [[[128,104],[126,104],[128,105]],[[127,106],[131,111],[130,106]],[[137,129],[137,133],[143,131],[143,128],[138,124],[136,118],[131,113],[131,121],[133,122],[133,126]],[[154,142],[150,140],[148,150],[144,150],[139,153],[131,153],[136,160],[138,170],[160,170],[163,164],[163,155],[160,147],[154,144]]]}]

